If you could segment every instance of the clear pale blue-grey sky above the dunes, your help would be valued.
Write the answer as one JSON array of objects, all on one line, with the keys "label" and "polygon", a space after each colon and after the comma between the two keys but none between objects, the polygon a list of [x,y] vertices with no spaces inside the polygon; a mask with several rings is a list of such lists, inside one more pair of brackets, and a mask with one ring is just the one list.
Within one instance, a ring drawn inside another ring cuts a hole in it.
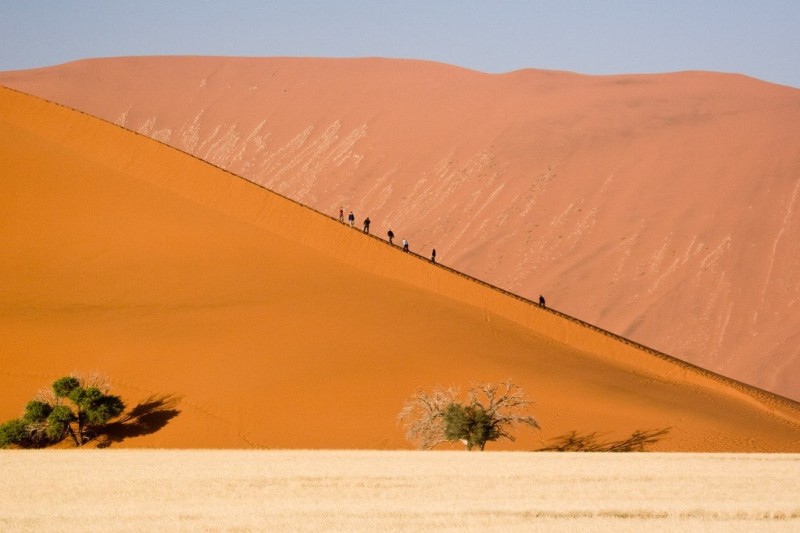
[{"label": "clear pale blue-grey sky above the dunes", "polygon": [[128,55],[709,70],[800,88],[800,0],[0,0],[0,70]]}]

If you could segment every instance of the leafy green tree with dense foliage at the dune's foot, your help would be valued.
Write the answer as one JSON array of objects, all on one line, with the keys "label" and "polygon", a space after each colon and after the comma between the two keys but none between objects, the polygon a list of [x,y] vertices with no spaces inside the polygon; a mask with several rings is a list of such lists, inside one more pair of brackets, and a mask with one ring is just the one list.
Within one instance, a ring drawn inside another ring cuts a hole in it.
[{"label": "leafy green tree with dense foliage at the dune's foot", "polygon": [[67,435],[83,446],[111,419],[121,415],[125,404],[98,383],[83,383],[75,376],[55,380],[52,394],[31,400],[22,418],[0,426],[0,447],[48,446]]}]

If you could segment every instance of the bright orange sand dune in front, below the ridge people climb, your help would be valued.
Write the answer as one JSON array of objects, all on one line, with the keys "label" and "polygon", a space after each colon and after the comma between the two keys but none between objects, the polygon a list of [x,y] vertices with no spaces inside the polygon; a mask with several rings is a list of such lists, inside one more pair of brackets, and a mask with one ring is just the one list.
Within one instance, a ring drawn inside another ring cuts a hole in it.
[{"label": "bright orange sand dune in front, below the ridge people climb", "polygon": [[542,425],[516,449],[671,428],[654,449],[800,451],[795,402],[89,115],[0,89],[0,168],[2,420],[54,377],[97,370],[129,406],[173,411],[116,446],[402,448],[415,388],[511,378]]}]

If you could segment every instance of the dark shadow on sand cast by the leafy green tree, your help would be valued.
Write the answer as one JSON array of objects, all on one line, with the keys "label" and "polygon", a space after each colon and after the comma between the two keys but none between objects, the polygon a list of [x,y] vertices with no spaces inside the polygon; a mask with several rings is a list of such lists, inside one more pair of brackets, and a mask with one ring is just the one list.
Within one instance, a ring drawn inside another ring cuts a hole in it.
[{"label": "dark shadow on sand cast by the leafy green tree", "polygon": [[97,437],[97,447],[108,448],[115,442],[155,433],[180,414],[176,409],[179,402],[180,398],[172,394],[150,396],[139,402],[119,420],[103,428],[103,434]]}]

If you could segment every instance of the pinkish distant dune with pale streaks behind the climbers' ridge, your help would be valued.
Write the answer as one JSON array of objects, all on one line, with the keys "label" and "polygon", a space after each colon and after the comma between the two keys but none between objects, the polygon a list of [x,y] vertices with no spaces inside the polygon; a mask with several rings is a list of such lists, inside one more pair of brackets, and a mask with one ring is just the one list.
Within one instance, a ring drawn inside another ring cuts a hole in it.
[{"label": "pinkish distant dune with pale streaks behind the climbers' ridge", "polygon": [[800,91],[158,57],[0,84],[171,144],[480,279],[800,399]]}]

